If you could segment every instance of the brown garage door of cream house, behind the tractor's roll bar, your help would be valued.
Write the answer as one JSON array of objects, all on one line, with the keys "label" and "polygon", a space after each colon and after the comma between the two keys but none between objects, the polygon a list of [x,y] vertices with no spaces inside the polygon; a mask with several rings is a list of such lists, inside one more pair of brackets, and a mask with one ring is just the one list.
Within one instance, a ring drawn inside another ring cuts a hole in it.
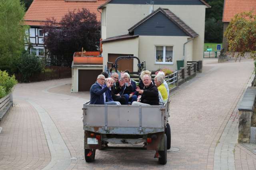
[{"label": "brown garage door of cream house, behind the tractor's roll bar", "polygon": [[[133,54],[108,54],[108,62],[114,63],[116,61],[117,57],[120,56],[133,56]],[[118,70],[124,71],[129,70],[130,72],[133,72],[133,59],[122,59],[118,61]]]}]

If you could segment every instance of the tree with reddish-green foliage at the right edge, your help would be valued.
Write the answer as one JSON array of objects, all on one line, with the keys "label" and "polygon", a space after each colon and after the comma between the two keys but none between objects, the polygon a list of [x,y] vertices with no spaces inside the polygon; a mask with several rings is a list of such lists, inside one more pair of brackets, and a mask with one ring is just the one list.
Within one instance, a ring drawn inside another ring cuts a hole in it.
[{"label": "tree with reddish-green foliage at the right edge", "polygon": [[256,15],[253,12],[236,14],[224,35],[227,37],[228,51],[233,57],[241,59],[246,53],[250,53],[256,60]]}]

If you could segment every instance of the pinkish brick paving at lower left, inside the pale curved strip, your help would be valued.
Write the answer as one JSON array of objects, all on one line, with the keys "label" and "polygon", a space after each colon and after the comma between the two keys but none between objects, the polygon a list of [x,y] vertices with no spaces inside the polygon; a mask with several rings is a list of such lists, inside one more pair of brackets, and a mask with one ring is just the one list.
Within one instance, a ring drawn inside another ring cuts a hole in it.
[{"label": "pinkish brick paving at lower left, inside the pale curved strip", "polygon": [[42,169],[50,162],[38,113],[27,102],[14,99],[0,125],[0,169]]}]

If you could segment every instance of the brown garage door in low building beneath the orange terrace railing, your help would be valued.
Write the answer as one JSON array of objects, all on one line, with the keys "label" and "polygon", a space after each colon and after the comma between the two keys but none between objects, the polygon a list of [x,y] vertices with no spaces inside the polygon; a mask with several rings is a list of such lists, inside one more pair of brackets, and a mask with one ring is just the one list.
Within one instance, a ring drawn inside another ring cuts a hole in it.
[{"label": "brown garage door in low building beneath the orange terrace railing", "polygon": [[89,91],[102,70],[78,70],[78,91]]}]

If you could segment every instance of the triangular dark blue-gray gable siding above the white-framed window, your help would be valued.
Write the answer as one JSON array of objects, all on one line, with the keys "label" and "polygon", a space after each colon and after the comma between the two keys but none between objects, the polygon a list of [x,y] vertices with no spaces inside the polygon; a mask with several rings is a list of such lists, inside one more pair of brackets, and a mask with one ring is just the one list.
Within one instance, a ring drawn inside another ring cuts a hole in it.
[{"label": "triangular dark blue-gray gable siding above the white-framed window", "polygon": [[134,35],[188,36],[162,12],[158,12],[134,29]]}]

